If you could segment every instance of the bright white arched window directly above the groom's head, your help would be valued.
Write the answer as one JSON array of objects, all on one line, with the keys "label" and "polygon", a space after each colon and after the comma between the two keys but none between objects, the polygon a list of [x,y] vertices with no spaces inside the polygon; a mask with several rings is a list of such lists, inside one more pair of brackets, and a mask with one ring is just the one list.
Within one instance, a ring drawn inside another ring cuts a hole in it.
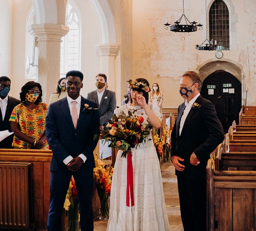
[{"label": "bright white arched window directly above the groom's head", "polygon": [[61,76],[70,70],[80,70],[80,23],[78,12],[70,1],[66,6],[66,26],[69,32],[62,38],[60,49]]}]

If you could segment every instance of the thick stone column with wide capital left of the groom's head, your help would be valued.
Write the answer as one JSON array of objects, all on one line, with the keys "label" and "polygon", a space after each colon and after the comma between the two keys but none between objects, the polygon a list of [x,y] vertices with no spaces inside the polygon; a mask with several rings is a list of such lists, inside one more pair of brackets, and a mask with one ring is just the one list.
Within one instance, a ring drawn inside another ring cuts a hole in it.
[{"label": "thick stone column with wide capital left of the groom's head", "polygon": [[49,103],[60,77],[60,43],[69,31],[59,24],[33,24],[29,32],[38,37],[38,83],[43,89],[43,102]]}]

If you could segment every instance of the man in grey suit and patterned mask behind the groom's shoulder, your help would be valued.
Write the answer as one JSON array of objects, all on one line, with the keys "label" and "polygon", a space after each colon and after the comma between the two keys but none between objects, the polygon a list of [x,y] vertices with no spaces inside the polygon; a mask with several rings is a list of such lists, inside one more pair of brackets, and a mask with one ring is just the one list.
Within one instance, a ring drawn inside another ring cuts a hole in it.
[{"label": "man in grey suit and patterned mask behind the groom's shoulder", "polygon": [[116,108],[116,93],[106,89],[107,76],[98,74],[96,76],[96,90],[87,94],[87,99],[94,101],[99,106],[100,130],[106,127]]}]

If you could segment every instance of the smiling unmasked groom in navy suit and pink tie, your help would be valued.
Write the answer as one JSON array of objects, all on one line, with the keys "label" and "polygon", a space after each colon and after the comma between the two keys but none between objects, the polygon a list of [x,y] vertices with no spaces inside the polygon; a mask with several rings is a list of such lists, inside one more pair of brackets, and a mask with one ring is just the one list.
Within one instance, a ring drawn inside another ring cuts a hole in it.
[{"label": "smiling unmasked groom in navy suit and pink tie", "polygon": [[93,231],[93,150],[99,139],[99,110],[95,102],[80,95],[82,81],[81,72],[68,72],[68,96],[50,104],[46,115],[46,138],[53,151],[48,231],[61,231],[61,213],[72,175],[78,191],[81,230]]}]

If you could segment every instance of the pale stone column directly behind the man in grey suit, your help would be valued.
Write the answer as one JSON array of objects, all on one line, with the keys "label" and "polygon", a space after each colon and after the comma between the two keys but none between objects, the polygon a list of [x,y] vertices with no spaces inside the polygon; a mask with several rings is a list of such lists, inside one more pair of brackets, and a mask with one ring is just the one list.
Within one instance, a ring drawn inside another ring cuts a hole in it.
[{"label": "pale stone column directly behind the man in grey suit", "polygon": [[107,83],[111,91],[116,93],[119,90],[118,84],[120,83],[117,80],[116,76],[116,56],[119,52],[118,44],[99,44],[96,47],[97,55],[99,55],[100,69],[99,73],[104,73],[107,76]]}]

